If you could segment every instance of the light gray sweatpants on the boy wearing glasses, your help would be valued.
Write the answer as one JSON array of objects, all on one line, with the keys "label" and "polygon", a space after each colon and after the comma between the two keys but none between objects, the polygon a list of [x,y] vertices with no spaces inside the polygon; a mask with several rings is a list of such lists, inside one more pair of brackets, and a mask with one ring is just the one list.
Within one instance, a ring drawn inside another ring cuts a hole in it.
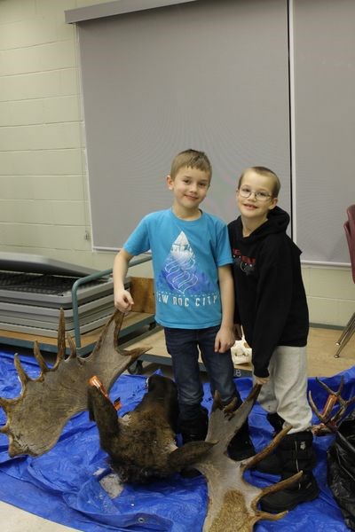
[{"label": "light gray sweatpants on the boy wearing glasses", "polygon": [[261,388],[258,403],[268,413],[277,412],[292,425],[288,434],[310,429],[312,410],[307,400],[306,348],[278,346],[269,364],[270,379]]}]

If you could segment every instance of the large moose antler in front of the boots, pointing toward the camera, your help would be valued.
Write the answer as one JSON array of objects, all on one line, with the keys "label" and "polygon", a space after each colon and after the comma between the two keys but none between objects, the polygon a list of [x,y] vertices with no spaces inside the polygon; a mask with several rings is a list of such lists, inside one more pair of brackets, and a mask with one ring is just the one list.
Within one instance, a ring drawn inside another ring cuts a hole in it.
[{"label": "large moose antler in front of the boots, pointing toward the camera", "polygon": [[237,411],[233,411],[233,403],[223,408],[219,395],[215,395],[206,437],[206,442],[215,442],[215,445],[200,461],[193,464],[208,482],[209,506],[203,532],[251,532],[258,520],[279,520],[287,513],[262,512],[257,509],[257,503],[267,493],[287,488],[301,477],[302,472],[264,489],[249,484],[243,478],[243,473],[269,455],[288,433],[290,426],[277,434],[264,450],[252,458],[237,462],[226,454],[229,442],[247,419],[259,391],[260,385],[253,387]]}]

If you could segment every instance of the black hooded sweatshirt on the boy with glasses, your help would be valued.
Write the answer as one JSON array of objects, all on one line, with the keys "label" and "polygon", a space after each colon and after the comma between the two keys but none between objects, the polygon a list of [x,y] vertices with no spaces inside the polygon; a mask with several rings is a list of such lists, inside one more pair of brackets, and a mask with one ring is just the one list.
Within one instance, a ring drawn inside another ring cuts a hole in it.
[{"label": "black hooded sweatshirt on the boy with glasses", "polygon": [[263,225],[243,237],[241,216],[229,223],[235,285],[234,323],[243,326],[257,377],[269,375],[277,346],[305,346],[308,308],[300,249],[286,234],[289,216],[273,208]]}]

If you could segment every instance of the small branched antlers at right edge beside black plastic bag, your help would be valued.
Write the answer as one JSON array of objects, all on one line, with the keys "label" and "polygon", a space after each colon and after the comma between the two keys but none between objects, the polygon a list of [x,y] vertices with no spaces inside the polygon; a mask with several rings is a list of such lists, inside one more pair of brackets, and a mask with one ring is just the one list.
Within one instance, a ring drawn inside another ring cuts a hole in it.
[{"label": "small branched antlers at right edge beside black plastic bag", "polygon": [[[327,386],[325,382],[322,382],[318,377],[316,377],[317,382],[320,384],[321,387],[323,387],[326,392],[328,393],[327,401],[323,407],[323,410],[319,412],[318,408],[316,407],[311,391],[309,392],[309,402],[311,404],[312,411],[316,414],[317,418],[319,419],[320,423],[319,425],[313,425],[312,426],[312,433],[316,434],[317,436],[324,436],[326,434],[334,434],[338,430],[338,426],[340,425],[341,421],[345,417],[345,413],[348,409],[348,407],[355,403],[355,396],[351,397],[348,401],[345,401],[342,397],[342,391],[343,391],[343,375],[340,380],[340,385],[336,391],[332,390],[330,387]],[[337,411],[335,411],[335,414],[332,415],[332,412],[334,411],[335,405],[338,403],[339,408]]]}]

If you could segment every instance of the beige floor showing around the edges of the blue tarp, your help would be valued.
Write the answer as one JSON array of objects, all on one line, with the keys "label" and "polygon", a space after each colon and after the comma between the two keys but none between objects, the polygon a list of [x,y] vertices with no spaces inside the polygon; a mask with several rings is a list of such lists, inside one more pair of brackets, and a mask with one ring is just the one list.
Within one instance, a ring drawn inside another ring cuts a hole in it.
[{"label": "beige floor showing around the edges of the blue tarp", "polygon": [[[327,377],[343,372],[355,364],[355,338],[343,349],[340,358],[334,358],[335,341],[339,331],[312,329],[308,344],[308,367],[310,377]],[[144,372],[154,372],[156,364],[144,364]],[[164,366],[164,374],[171,375],[170,366]],[[44,520],[32,513],[24,512],[12,505],[0,502],[1,532],[65,532],[75,530],[50,520]]]}]

